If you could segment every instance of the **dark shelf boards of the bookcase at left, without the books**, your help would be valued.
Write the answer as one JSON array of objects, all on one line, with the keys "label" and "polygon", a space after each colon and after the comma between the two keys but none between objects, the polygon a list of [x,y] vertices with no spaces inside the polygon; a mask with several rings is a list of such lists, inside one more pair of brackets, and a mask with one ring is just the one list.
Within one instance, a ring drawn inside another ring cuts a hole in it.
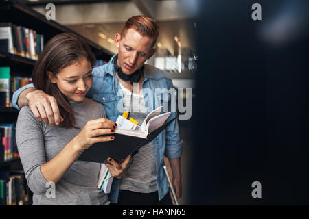
[{"label": "dark shelf boards of the bookcase at left, without the books", "polygon": [[[71,32],[84,39],[89,44],[91,51],[98,60],[108,61],[114,55],[111,51],[100,47],[100,45],[81,36],[64,25],[60,25],[56,21],[47,21],[43,14],[36,12],[27,5],[23,5],[19,1],[0,0],[0,23],[12,23],[16,26],[33,29],[44,36],[44,44],[56,34]],[[35,63],[35,60],[27,57],[14,55],[9,52],[0,52],[0,67],[9,66],[11,73],[10,77],[31,77]],[[12,107],[0,105],[0,123],[16,123],[18,112],[18,110]],[[0,161],[0,173],[1,171],[8,170],[23,170],[20,159],[14,158],[8,161]],[[32,194],[30,192],[30,197],[31,196]]]}]

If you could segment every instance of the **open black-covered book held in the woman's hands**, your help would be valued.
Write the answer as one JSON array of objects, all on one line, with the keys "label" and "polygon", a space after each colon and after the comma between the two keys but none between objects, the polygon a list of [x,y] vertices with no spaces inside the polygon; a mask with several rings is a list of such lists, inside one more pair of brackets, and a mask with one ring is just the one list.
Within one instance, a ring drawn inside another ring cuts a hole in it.
[{"label": "open black-covered book held in the woman's hands", "polygon": [[111,157],[116,162],[123,162],[128,155],[133,154],[155,139],[161,131],[176,119],[176,117],[172,118],[165,123],[165,120],[170,116],[170,112],[160,114],[162,108],[159,107],[150,112],[137,130],[117,127],[114,140],[93,144],[80,153],[78,160],[109,164],[107,159]]}]

